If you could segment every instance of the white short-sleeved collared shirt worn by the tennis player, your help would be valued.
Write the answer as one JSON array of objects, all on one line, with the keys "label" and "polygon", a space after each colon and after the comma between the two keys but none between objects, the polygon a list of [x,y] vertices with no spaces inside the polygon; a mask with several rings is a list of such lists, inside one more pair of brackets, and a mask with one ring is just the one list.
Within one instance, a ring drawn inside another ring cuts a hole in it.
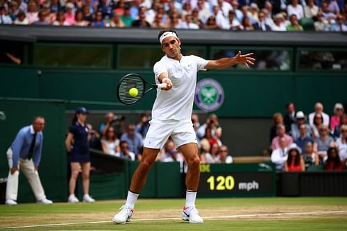
[{"label": "white short-sleeved collared shirt worn by the tennis player", "polygon": [[183,56],[180,61],[164,55],[155,63],[155,83],[158,76],[167,72],[173,87],[168,91],[157,89],[152,118],[160,120],[191,119],[197,72],[208,64],[208,60],[195,55]]}]

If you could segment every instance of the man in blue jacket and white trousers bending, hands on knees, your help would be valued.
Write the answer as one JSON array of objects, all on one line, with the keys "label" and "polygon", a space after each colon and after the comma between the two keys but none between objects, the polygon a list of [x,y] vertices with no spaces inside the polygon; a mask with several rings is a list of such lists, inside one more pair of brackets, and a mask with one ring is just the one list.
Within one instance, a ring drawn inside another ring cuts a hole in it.
[{"label": "man in blue jacket and white trousers bending, hands on knees", "polygon": [[37,203],[51,205],[53,202],[46,198],[40,182],[38,169],[42,154],[44,118],[35,117],[31,126],[25,126],[17,133],[15,140],[7,151],[8,172],[6,187],[6,205],[17,205],[19,169],[33,189]]}]

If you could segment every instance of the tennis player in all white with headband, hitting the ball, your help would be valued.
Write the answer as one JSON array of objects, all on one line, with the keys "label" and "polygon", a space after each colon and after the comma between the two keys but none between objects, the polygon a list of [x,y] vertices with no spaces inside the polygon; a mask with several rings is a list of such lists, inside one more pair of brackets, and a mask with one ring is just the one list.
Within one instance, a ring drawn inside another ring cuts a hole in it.
[{"label": "tennis player in all white with headband, hitting the ball", "polygon": [[189,223],[203,223],[195,207],[196,190],[200,178],[198,145],[191,121],[196,75],[203,69],[226,69],[237,64],[248,67],[254,64],[255,59],[251,58],[253,53],[242,55],[241,51],[235,57],[219,60],[204,60],[195,55],[183,56],[180,53],[180,39],[173,30],[160,31],[158,40],[165,55],[153,67],[155,82],[167,83],[167,87],[163,88],[164,91],[157,90],[142,160],[131,180],[126,204],[114,216],[113,221],[122,224],[130,221],[139,192],[146,182],[147,173],[160,148],[171,137],[188,163],[185,179],[187,192],[182,219]]}]

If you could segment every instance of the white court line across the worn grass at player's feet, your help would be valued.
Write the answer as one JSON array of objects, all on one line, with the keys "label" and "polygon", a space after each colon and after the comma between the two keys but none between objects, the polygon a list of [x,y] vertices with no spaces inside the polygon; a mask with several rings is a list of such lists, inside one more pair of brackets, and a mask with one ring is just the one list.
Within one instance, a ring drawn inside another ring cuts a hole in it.
[{"label": "white court line across the worn grass at player's feet", "polygon": [[[317,214],[341,214],[347,213],[347,210],[335,210],[335,211],[315,211],[315,212],[278,212],[269,214],[240,214],[230,216],[204,216],[203,219],[232,219],[242,217],[262,217],[262,216],[290,216],[290,215],[317,215]],[[177,217],[162,218],[162,219],[132,219],[131,221],[168,221],[168,220],[181,220]],[[96,224],[96,223],[112,223],[112,221],[88,221],[88,222],[75,222],[75,223],[56,223],[56,224],[44,224],[44,225],[26,225],[26,226],[12,226],[0,228],[0,230],[18,229],[18,228],[37,228],[45,226],[61,226],[61,225],[85,225],[85,224]],[[105,230],[103,230],[105,231]],[[117,230],[112,230],[117,231]]]}]

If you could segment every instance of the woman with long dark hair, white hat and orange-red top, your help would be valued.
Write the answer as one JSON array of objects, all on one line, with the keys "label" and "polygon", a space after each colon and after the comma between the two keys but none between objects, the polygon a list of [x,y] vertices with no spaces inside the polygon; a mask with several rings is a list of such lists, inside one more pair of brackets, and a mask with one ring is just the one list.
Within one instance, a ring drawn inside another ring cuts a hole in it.
[{"label": "woman with long dark hair, white hat and orange-red top", "polygon": [[305,162],[301,156],[301,150],[296,144],[291,144],[287,151],[287,161],[285,161],[285,171],[305,171]]}]

